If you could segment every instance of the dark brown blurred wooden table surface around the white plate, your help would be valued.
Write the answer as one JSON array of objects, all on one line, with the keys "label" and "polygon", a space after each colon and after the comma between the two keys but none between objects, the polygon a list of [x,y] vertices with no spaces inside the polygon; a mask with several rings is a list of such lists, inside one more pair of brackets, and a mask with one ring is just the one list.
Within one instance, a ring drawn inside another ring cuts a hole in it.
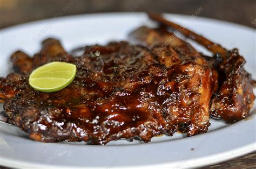
[{"label": "dark brown blurred wooden table surface around the white plate", "polygon": [[[66,8],[68,4],[70,7]],[[0,0],[0,29],[33,20],[96,12],[167,12],[191,15],[200,6],[201,17],[256,27],[255,0]],[[253,137],[253,136],[252,136]],[[256,137],[256,135],[254,136]],[[4,168],[3,166],[0,168]],[[256,168],[256,152],[203,168]]]}]

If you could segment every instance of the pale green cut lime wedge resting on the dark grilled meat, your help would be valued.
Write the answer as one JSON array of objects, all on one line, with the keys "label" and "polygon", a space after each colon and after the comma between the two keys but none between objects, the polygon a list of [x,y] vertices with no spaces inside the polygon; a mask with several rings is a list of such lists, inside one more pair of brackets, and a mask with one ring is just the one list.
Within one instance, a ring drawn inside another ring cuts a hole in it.
[{"label": "pale green cut lime wedge resting on the dark grilled meat", "polygon": [[39,91],[53,92],[64,89],[75,79],[76,65],[50,62],[35,69],[29,76],[29,85]]}]

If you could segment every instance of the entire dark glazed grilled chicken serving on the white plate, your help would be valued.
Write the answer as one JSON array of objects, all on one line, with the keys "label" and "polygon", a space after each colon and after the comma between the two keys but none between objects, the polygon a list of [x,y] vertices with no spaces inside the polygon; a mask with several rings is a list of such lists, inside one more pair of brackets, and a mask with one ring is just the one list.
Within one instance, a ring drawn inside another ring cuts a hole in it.
[{"label": "entire dark glazed grilled chicken serving on the white plate", "polygon": [[[166,29],[179,25],[150,17],[165,26],[134,30],[133,44],[86,46],[73,57],[50,38],[34,57],[14,53],[15,73],[0,79],[9,122],[41,142],[106,144],[149,142],[177,130],[197,135],[207,131],[210,116],[226,122],[245,118],[254,101],[253,81],[238,50],[227,51],[184,28],[181,33],[214,53],[205,57]],[[29,74],[52,61],[75,64],[75,80],[53,93],[31,88]]]}]

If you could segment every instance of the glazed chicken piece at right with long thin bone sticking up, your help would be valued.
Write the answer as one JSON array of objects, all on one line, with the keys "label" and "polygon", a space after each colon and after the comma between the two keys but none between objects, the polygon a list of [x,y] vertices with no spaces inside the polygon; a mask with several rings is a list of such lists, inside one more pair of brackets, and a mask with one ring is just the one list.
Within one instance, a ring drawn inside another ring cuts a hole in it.
[{"label": "glazed chicken piece at right with long thin bone sticking up", "polygon": [[149,14],[149,17],[157,22],[169,26],[183,33],[184,36],[203,45],[214,54],[210,60],[219,73],[219,87],[212,98],[210,114],[214,118],[220,118],[228,123],[240,121],[248,115],[253,106],[255,96],[253,87],[255,81],[244,69],[245,59],[238,49],[231,51],[213,43],[212,41],[199,36],[185,27],[165,20],[160,15]]}]

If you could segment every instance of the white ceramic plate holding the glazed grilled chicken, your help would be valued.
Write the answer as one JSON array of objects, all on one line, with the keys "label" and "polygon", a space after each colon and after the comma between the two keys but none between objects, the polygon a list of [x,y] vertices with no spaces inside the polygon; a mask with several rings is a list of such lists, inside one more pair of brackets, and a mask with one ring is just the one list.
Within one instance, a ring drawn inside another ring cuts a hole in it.
[{"label": "white ceramic plate holding the glazed grilled chicken", "polygon": [[[226,48],[237,47],[247,60],[248,72],[256,79],[255,30],[219,20],[190,16],[165,15],[167,19],[187,25]],[[74,47],[125,40],[140,25],[154,25],[144,13],[107,13],[53,18],[0,32],[0,75],[9,73],[9,56],[20,49],[32,55],[47,37],[60,39],[70,51]],[[192,43],[199,51],[202,47]],[[254,112],[253,112],[254,111]],[[156,137],[151,143],[126,140],[105,146],[85,143],[40,143],[26,137],[16,127],[0,124],[0,165],[12,167],[198,167],[219,163],[256,149],[255,106],[245,120],[232,125],[211,119],[207,133],[186,138]]]}]

